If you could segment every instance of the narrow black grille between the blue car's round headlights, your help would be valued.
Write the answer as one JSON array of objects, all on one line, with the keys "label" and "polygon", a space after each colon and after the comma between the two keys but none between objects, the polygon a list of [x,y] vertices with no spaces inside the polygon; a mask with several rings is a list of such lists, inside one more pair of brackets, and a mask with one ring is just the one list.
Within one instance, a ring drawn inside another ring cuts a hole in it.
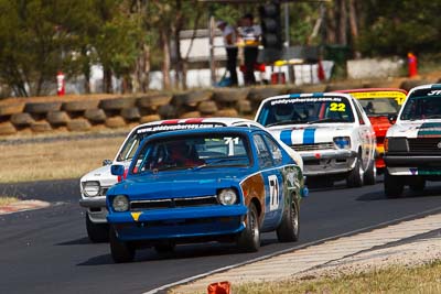
[{"label": "narrow black grille between the blue car's round headlights", "polygon": [[217,196],[186,197],[186,198],[165,198],[152,200],[130,202],[130,210],[141,209],[165,209],[181,207],[197,207],[218,205]]}]

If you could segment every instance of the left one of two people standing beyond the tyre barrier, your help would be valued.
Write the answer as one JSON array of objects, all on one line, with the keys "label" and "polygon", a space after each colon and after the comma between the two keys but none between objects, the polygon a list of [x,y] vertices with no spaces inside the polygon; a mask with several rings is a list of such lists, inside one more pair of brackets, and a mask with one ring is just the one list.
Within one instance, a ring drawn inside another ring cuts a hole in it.
[{"label": "left one of two people standing beyond the tyre barrier", "polygon": [[224,45],[227,52],[227,70],[232,79],[230,86],[237,86],[237,33],[236,29],[229,25],[226,21],[217,21],[216,26],[222,31]]}]

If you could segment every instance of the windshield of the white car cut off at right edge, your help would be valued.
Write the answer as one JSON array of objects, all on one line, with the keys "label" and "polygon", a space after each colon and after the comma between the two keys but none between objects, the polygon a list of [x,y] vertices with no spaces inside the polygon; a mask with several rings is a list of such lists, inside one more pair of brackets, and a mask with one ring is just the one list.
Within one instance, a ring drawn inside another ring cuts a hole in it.
[{"label": "windshield of the white car cut off at right edge", "polygon": [[400,119],[441,119],[441,95],[409,97]]}]

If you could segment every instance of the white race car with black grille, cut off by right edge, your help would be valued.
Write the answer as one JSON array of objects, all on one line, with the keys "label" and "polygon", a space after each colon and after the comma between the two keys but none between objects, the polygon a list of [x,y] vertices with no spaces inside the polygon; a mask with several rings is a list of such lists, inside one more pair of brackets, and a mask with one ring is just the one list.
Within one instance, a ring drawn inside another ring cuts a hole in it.
[{"label": "white race car with black grille, cut off by right edge", "polygon": [[385,139],[385,194],[404,187],[421,192],[426,181],[441,181],[441,84],[411,89]]}]

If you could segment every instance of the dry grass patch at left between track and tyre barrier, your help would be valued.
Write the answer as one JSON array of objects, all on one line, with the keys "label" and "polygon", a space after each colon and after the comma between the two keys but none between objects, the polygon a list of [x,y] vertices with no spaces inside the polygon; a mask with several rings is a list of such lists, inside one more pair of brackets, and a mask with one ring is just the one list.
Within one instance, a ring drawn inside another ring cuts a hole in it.
[{"label": "dry grass patch at left between track and tyre barrier", "polygon": [[1,183],[80,177],[112,160],[123,138],[0,145]]}]

